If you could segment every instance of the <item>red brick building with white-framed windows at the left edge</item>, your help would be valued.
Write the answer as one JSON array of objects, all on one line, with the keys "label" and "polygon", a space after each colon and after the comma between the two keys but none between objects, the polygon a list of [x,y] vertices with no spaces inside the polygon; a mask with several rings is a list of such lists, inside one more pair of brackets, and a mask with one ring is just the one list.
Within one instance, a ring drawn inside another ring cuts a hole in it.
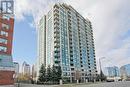
[{"label": "red brick building with white-framed windows at the left edge", "polygon": [[13,84],[13,41],[14,18],[0,14],[0,85]]}]

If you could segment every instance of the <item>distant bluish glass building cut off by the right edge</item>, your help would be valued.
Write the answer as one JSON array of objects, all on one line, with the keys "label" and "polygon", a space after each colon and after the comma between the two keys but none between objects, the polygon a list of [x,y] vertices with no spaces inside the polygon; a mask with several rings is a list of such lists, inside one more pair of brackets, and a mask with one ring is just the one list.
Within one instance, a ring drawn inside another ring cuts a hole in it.
[{"label": "distant bluish glass building cut off by the right edge", "polygon": [[130,80],[130,64],[124,65],[120,68],[121,77],[124,80]]}]

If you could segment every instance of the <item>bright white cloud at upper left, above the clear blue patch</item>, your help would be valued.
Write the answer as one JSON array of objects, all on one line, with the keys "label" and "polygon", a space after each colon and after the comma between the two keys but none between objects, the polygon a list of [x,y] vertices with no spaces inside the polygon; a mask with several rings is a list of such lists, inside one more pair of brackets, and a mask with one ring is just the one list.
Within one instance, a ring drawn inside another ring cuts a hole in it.
[{"label": "bright white cloud at upper left, above the clear blue patch", "polygon": [[55,2],[60,2],[60,0],[14,0],[14,2],[17,20],[24,20],[25,15],[32,15],[37,22]]}]

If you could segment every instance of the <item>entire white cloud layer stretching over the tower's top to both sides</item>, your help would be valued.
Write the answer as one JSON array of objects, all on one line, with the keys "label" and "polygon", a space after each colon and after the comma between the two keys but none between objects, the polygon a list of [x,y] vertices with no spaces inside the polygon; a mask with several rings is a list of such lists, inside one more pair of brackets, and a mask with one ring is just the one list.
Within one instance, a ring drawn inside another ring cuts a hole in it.
[{"label": "entire white cloud layer stretching over the tower's top to both sides", "polygon": [[[32,14],[37,21],[55,2],[72,5],[84,17],[92,21],[97,60],[105,56],[103,65],[121,66],[130,63],[129,0],[15,0],[15,16],[24,19]],[[129,35],[128,35],[129,37]],[[107,63],[107,64],[105,64]]]}]

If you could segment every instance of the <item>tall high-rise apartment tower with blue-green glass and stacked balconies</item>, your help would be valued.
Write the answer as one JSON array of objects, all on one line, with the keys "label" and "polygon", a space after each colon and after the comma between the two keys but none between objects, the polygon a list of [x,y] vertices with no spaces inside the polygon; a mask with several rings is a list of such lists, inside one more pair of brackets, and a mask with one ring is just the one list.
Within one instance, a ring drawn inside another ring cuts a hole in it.
[{"label": "tall high-rise apartment tower with blue-green glass and stacked balconies", "polygon": [[91,22],[70,5],[55,4],[39,22],[37,76],[41,64],[60,65],[70,81],[96,77]]}]

